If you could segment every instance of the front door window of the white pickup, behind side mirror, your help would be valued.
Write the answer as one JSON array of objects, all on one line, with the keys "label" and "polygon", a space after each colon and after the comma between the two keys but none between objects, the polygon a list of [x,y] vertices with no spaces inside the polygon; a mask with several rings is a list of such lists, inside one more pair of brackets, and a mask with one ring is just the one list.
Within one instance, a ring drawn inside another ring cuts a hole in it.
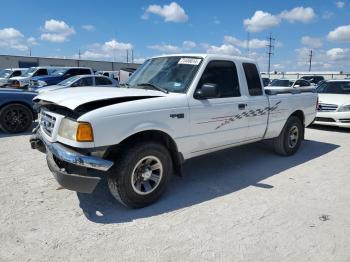
[{"label": "front door window of the white pickup, behind side mirror", "polygon": [[219,98],[241,96],[236,65],[231,61],[211,61],[208,63],[198,88],[203,84],[216,84]]}]

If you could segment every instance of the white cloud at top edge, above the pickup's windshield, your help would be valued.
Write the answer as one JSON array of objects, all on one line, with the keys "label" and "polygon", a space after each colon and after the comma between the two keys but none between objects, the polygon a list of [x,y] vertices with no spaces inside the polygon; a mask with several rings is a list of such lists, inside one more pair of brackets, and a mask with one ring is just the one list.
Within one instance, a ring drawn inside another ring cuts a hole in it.
[{"label": "white cloud at top edge, above the pickup's windshield", "polygon": [[142,15],[142,19],[148,19],[149,14],[155,14],[164,17],[165,22],[183,23],[188,20],[188,16],[185,10],[176,2],[172,2],[169,5],[163,6],[150,5]]}]

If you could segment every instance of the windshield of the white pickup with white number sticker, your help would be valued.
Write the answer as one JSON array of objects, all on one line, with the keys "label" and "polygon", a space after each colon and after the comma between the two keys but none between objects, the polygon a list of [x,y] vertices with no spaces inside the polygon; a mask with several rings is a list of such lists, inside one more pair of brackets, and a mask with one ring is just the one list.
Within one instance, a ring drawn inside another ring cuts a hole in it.
[{"label": "windshield of the white pickup with white number sticker", "polygon": [[196,57],[152,58],[144,62],[126,84],[131,88],[151,88],[153,85],[168,92],[184,93],[201,62],[202,58]]}]

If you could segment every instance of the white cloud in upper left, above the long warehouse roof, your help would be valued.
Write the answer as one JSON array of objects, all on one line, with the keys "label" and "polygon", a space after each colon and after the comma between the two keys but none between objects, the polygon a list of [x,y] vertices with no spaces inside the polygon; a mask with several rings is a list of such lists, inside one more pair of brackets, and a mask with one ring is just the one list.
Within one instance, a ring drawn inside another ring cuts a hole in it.
[{"label": "white cloud in upper left, above the long warehouse roof", "polygon": [[54,19],[45,21],[42,31],[43,33],[40,36],[41,40],[56,43],[68,41],[69,37],[75,34],[74,28],[66,24],[66,22]]}]

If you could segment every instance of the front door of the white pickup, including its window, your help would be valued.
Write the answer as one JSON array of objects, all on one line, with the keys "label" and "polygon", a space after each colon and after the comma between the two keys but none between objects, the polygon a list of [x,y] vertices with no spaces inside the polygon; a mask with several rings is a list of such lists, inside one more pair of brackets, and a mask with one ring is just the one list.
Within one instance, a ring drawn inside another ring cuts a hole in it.
[{"label": "front door of the white pickup, including its window", "polygon": [[245,140],[248,118],[244,115],[248,99],[242,96],[237,68],[232,61],[210,61],[198,83],[215,84],[219,95],[211,99],[189,100],[191,153],[233,145]]}]

